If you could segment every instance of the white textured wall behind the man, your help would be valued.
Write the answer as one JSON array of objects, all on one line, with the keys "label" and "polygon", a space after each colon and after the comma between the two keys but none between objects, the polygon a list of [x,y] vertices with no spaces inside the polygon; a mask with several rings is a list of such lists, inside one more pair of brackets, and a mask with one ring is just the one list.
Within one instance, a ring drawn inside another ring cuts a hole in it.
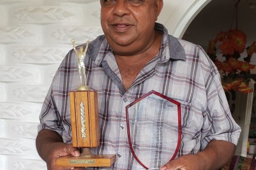
[{"label": "white textured wall behind the man", "polygon": [[[102,34],[99,0],[0,0],[0,169],[47,169],[35,148],[42,102],[71,39]],[[206,0],[164,0],[159,22],[183,34]]]}]

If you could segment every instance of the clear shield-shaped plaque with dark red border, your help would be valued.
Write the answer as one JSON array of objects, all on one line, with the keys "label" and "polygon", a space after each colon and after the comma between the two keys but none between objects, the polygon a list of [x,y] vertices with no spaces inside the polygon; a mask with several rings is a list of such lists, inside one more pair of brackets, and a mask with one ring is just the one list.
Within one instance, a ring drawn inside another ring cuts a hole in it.
[{"label": "clear shield-shaped plaque with dark red border", "polygon": [[179,102],[151,91],[127,105],[126,119],[137,169],[159,169],[175,158],[181,140]]}]

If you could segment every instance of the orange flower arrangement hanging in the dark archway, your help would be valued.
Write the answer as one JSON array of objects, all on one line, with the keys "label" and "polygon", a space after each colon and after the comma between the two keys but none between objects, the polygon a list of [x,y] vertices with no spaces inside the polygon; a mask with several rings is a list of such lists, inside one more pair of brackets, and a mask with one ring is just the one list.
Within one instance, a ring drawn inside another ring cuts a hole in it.
[{"label": "orange flower arrangement hanging in the dark archway", "polygon": [[[215,39],[209,41],[207,53],[222,73],[225,91],[253,91],[247,84],[250,70],[255,67],[250,63],[251,57],[256,53],[255,41],[246,46],[246,34],[239,29],[229,29],[219,32]],[[220,61],[217,56],[224,57],[224,61]]]}]

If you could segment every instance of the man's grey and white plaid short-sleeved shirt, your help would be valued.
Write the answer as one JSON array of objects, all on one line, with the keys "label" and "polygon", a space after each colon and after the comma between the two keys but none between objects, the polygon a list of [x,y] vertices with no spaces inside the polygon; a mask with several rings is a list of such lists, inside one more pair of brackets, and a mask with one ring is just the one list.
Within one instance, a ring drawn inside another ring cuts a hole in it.
[{"label": "man's grey and white plaid short-sleeved shirt", "polygon": [[[182,134],[176,158],[196,154],[214,139],[235,145],[238,142],[241,130],[230,114],[220,75],[213,62],[200,46],[168,35],[162,24],[156,23],[155,29],[163,33],[159,54],[144,66],[127,91],[123,88],[117,62],[105,36],[99,36],[89,44],[84,61],[86,82],[98,92],[101,131],[100,146],[92,150],[94,154],[117,154],[113,167],[100,169],[142,168],[129,148],[126,106],[152,90],[181,104]],[[79,84],[77,58],[71,50],[49,88],[40,114],[39,131],[55,130],[64,142],[72,143],[69,91],[76,90]],[[159,123],[177,121],[174,118],[161,120],[157,119],[157,115],[155,117]],[[161,135],[164,137],[165,133]],[[150,138],[144,138],[150,141]],[[154,144],[147,147],[149,150],[150,147],[155,149]],[[155,152],[174,152],[175,147],[159,147]],[[144,156],[151,160],[150,167],[159,168],[170,159],[166,155],[168,158],[160,159],[156,159],[155,155]]]}]

